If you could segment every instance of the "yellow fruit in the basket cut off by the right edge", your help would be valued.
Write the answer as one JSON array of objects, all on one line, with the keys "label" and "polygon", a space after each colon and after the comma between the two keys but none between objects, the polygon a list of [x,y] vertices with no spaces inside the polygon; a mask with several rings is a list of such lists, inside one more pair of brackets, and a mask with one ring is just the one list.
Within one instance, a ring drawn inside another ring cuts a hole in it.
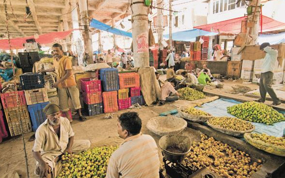
[{"label": "yellow fruit in the basket cut off by the right edge", "polygon": [[285,148],[285,137],[275,137],[275,136],[269,136],[266,134],[257,134],[252,133],[251,138],[254,140],[259,140],[268,144],[273,144],[278,147]]}]

